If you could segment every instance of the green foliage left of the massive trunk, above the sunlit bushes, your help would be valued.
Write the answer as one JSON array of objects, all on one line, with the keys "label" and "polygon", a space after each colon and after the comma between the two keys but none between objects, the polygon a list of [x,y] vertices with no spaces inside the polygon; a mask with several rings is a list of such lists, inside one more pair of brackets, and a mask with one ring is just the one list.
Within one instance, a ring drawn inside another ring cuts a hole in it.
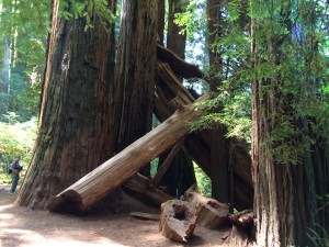
[{"label": "green foliage left of the massive trunk, above the sunlit bushes", "polygon": [[[10,66],[0,60],[0,70],[9,74],[9,91],[2,91],[1,108],[14,111],[20,121],[38,114],[41,81],[45,66],[46,40],[49,32],[48,0],[3,0],[0,11],[0,38],[10,41]],[[0,43],[0,54],[8,47]],[[7,50],[8,52],[8,50]],[[9,70],[9,71],[8,71]],[[0,81],[4,78],[0,78]],[[1,120],[5,117],[0,116]]]}]

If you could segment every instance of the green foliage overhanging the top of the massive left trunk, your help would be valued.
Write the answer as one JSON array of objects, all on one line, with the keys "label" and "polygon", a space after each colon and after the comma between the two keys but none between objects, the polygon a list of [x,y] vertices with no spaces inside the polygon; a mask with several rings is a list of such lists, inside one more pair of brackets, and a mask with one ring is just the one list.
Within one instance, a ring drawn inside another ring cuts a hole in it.
[{"label": "green foliage overhanging the top of the massive left trunk", "polygon": [[84,19],[86,26],[84,30],[93,27],[94,18],[98,16],[102,22],[103,27],[107,29],[109,24],[115,22],[115,15],[107,8],[106,0],[69,0],[60,1],[60,14],[69,20],[75,19]]}]

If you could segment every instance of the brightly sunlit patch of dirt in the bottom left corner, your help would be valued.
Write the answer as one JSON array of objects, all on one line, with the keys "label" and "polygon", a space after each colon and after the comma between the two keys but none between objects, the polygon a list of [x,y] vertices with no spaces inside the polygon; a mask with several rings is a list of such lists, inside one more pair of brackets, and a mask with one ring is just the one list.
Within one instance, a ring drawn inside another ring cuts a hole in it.
[{"label": "brightly sunlit patch of dirt in the bottom left corner", "polygon": [[[31,214],[34,216],[31,217]],[[80,224],[72,225],[75,221]],[[0,246],[126,246],[120,244],[117,239],[102,236],[103,228],[105,227],[94,227],[84,221],[81,222],[81,218],[69,215],[32,211],[14,204],[0,206]]]}]

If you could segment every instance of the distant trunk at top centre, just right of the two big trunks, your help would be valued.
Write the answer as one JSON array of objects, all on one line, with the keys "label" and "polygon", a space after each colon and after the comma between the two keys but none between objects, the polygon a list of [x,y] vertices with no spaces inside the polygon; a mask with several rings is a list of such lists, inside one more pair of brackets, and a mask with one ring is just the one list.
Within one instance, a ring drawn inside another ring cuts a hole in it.
[{"label": "distant trunk at top centre, just right of the two big trunks", "polygon": [[175,24],[174,14],[181,13],[185,4],[180,0],[169,0],[168,36],[167,48],[174,52],[179,57],[185,59],[186,32],[180,33],[182,27]]}]

